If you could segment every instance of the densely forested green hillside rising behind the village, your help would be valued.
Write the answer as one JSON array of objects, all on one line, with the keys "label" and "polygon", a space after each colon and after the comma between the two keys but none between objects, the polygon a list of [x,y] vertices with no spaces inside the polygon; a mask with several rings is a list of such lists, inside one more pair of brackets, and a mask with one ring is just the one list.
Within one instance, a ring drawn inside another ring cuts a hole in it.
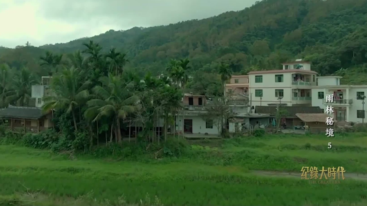
[{"label": "densely forested green hillside rising behind the village", "polygon": [[40,71],[37,61],[46,50],[72,53],[92,40],[105,52],[112,47],[126,52],[126,67],[140,73],[159,73],[170,59],[188,58],[194,78],[202,79],[202,74],[217,72],[220,62],[228,63],[234,74],[246,74],[303,58],[321,75],[336,73],[345,76],[344,83],[362,84],[367,83],[366,28],[367,0],[264,0],[203,20],[110,30],[40,48],[0,48],[0,61]]}]

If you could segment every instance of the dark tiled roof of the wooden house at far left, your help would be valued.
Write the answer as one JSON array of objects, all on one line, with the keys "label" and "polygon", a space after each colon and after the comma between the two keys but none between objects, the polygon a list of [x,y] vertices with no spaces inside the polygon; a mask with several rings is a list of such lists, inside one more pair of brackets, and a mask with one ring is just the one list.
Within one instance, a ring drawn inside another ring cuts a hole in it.
[{"label": "dark tiled roof of the wooden house at far left", "polygon": [[43,116],[41,108],[37,107],[15,107],[9,105],[0,109],[0,118],[39,119]]}]

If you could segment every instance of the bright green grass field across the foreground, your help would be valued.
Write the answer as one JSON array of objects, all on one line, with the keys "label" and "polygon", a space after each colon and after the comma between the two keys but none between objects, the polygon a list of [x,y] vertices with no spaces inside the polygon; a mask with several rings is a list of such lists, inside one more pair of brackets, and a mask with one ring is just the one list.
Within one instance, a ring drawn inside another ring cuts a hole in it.
[{"label": "bright green grass field across the foreground", "polygon": [[340,184],[309,184],[300,176],[302,166],[366,173],[366,151],[367,135],[357,133],[331,140],[324,135],[201,140],[180,158],[124,161],[116,153],[101,157],[98,150],[70,160],[1,145],[0,205],[366,205],[367,181],[347,177]]}]

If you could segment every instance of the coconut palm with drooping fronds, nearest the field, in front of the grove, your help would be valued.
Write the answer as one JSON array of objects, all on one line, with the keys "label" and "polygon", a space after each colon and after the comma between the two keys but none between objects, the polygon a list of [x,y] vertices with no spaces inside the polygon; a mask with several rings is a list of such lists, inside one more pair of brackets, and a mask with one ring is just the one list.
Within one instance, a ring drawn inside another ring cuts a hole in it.
[{"label": "coconut palm with drooping fronds, nearest the field, in front of the grove", "polygon": [[[87,102],[88,109],[84,112],[86,119],[98,121],[102,117],[112,119],[111,133],[115,128],[116,139],[121,142],[120,120],[132,114],[138,97],[134,95],[133,82],[125,82],[121,76],[101,77],[105,87],[95,86],[92,91],[96,98]],[[97,114],[97,115],[95,115]]]}]

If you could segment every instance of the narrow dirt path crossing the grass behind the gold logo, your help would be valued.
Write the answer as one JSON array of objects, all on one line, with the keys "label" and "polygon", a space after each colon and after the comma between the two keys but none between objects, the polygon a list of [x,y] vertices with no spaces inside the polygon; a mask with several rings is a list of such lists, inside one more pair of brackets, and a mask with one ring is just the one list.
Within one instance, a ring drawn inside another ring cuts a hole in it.
[{"label": "narrow dirt path crossing the grass behind the gold logo", "polygon": [[[277,171],[262,171],[262,170],[252,170],[251,172],[262,176],[293,177],[301,179],[301,172],[277,172]],[[350,178],[355,180],[367,181],[367,174],[344,173],[344,177],[346,179]]]}]

